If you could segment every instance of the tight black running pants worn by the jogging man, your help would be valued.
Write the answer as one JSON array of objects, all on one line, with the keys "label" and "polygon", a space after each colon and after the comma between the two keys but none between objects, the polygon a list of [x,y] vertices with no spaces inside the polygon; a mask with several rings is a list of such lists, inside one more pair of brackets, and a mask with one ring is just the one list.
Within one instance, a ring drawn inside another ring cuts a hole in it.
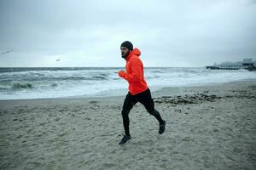
[{"label": "tight black running pants worn by the jogging man", "polygon": [[151,97],[149,88],[146,91],[136,95],[131,95],[129,92],[126,95],[125,102],[123,105],[123,110],[122,110],[123,124],[125,127],[126,135],[130,135],[130,130],[129,130],[130,121],[129,121],[128,115],[133,105],[136,105],[137,102],[140,102],[141,104],[143,104],[146,110],[148,111],[148,113],[150,115],[153,115],[158,120],[158,122],[160,122],[160,124],[164,123],[160,116],[160,113],[154,110],[154,100]]}]

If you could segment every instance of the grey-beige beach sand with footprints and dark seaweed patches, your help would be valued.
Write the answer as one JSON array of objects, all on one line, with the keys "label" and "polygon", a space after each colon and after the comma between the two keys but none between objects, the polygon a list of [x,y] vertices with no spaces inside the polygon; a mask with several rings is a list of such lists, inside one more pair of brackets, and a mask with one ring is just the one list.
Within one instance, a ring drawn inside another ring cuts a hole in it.
[{"label": "grey-beige beach sand with footprints and dark seaweed patches", "polygon": [[0,169],[255,169],[256,82],[152,93],[166,132],[125,96],[0,101]]}]

